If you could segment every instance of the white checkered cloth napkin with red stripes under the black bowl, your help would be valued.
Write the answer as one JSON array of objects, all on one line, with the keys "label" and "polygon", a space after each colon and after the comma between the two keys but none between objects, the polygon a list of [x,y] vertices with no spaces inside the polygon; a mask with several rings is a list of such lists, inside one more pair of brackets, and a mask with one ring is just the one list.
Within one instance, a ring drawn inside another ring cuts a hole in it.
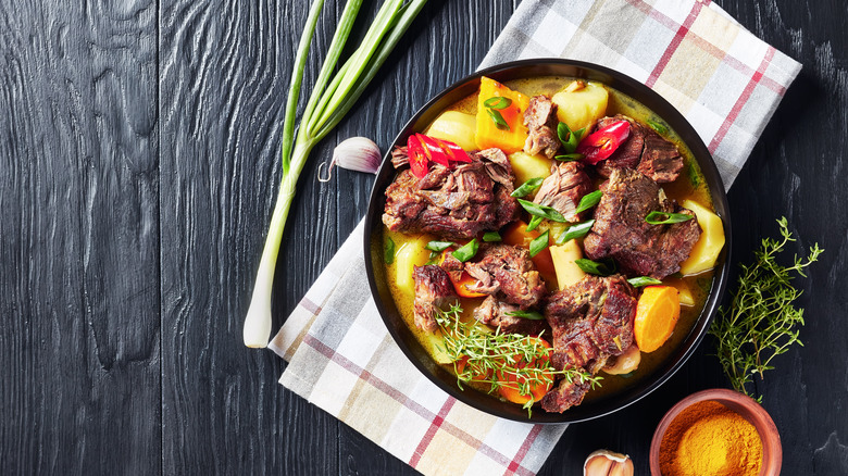
[{"label": "white checkered cloth napkin with red stripes under the black bowl", "polygon": [[[524,0],[481,67],[560,57],[619,70],[695,126],[726,187],[800,64],[709,0]],[[533,475],[564,425],[481,413],[421,375],[395,345],[365,279],[357,227],[270,348],[279,381],[426,475]]]}]

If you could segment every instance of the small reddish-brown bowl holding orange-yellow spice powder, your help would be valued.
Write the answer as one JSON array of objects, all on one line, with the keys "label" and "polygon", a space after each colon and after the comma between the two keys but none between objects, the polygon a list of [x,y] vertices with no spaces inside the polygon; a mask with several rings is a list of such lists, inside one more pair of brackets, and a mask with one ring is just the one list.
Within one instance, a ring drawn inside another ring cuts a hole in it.
[{"label": "small reddish-brown bowl holding orange-yellow spice powder", "polygon": [[783,450],[781,448],[781,435],[777,427],[774,426],[772,417],[760,406],[752,398],[741,394],[734,390],[725,388],[712,388],[693,393],[681,400],[672,406],[665,416],[662,417],[657,430],[651,439],[650,466],[651,475],[661,476],[660,473],[660,443],[665,435],[665,430],[677,415],[695,403],[706,400],[712,400],[738,413],[743,418],[750,422],[760,435],[762,441],[762,468],[760,476],[777,476],[781,474],[781,464],[783,463]]}]

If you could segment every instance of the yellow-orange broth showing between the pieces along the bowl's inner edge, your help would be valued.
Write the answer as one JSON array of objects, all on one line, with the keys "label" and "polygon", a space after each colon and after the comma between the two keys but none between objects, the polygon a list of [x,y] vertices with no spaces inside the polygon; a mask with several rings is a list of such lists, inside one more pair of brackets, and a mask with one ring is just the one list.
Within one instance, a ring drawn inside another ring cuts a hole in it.
[{"label": "yellow-orange broth showing between the pieces along the bowl's inner edge", "polygon": [[[506,85],[511,89],[520,91],[527,96],[537,95],[553,95],[570,84],[573,79],[566,77],[539,77],[527,78],[509,82]],[[681,140],[674,130],[665,124],[665,122],[657,116],[652,111],[640,104],[635,99],[607,87],[609,91],[609,101],[607,105],[607,115],[612,116],[615,114],[625,114],[643,123],[653,121],[661,124],[666,128],[666,133],[662,134],[663,137],[674,142],[684,159],[684,170],[677,180],[672,184],[662,184],[662,188],[666,196],[678,203],[685,199],[697,201],[710,210],[713,210],[712,198],[710,190],[703,179],[698,163],[695,161],[691,152],[686,145]],[[477,95],[469,96],[457,103],[450,105],[446,111],[459,111],[467,114],[476,114],[477,112]],[[517,187],[521,184],[515,184]],[[400,233],[389,231],[384,228],[384,242],[388,242],[388,239],[395,242],[396,249],[400,250],[401,247],[408,246],[412,241],[420,239],[420,236],[407,236]],[[424,263],[419,263],[419,265]],[[397,261],[392,264],[386,265],[387,276],[395,276]],[[621,390],[633,387],[644,378],[649,377],[654,369],[657,369],[662,362],[664,362],[679,346],[685,338],[689,335],[695,326],[698,316],[707,301],[710,287],[712,285],[713,271],[708,271],[693,276],[684,276],[678,278],[686,286],[688,286],[695,305],[681,306],[681,317],[672,334],[671,338],[657,351],[651,353],[641,354],[641,362],[638,369],[631,373],[627,376],[608,375],[601,372],[599,375],[603,377],[601,387],[596,388],[586,396],[585,401],[599,400],[609,396],[619,393]],[[444,351],[440,349],[439,340],[440,335],[431,335],[424,333],[414,325],[413,317],[413,300],[414,290],[412,293],[401,290],[392,279],[389,279],[389,288],[391,290],[392,298],[397,304],[398,311],[403,316],[404,322],[422,343],[422,346],[428,351],[434,360],[442,364],[446,368],[452,372],[453,366],[449,364],[448,359]],[[479,305],[481,299],[465,299],[460,300],[462,305],[463,320],[473,320],[473,309]],[[550,336],[549,336],[550,337]],[[477,387],[478,390],[487,391],[488,387]]]}]

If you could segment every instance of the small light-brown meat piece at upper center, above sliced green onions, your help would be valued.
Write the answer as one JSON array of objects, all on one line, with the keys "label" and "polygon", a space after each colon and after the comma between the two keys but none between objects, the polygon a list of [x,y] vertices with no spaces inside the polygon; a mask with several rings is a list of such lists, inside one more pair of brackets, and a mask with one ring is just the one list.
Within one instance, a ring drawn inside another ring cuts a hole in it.
[{"label": "small light-brown meat piece at upper center, above sliced green onions", "polygon": [[550,172],[533,201],[562,213],[570,222],[579,221],[579,215],[574,211],[577,210],[583,196],[591,190],[591,179],[583,172],[583,164],[559,162],[551,165]]}]

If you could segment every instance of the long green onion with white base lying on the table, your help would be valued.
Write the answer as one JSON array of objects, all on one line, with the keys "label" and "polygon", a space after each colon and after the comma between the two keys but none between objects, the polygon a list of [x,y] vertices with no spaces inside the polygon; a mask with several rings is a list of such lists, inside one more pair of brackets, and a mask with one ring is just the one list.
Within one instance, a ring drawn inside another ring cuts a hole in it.
[{"label": "long green onion with white base lying on the table", "polygon": [[267,346],[271,335],[271,292],[279,245],[291,201],[295,198],[298,177],[310,152],[321,139],[338,125],[362,96],[369,83],[377,74],[425,3],[426,0],[411,0],[406,4],[404,0],[387,0],[383,3],[359,48],[334,74],[345,42],[362,5],[362,0],[347,2],[327,50],[327,57],[324,59],[324,64],[315,80],[315,87],[312,89],[303,110],[296,136],[295,116],[303,70],[309,55],[309,46],[315,33],[315,25],[324,5],[324,0],[313,0],[291,72],[283,128],[283,178],[274,212],[271,215],[262,258],[259,262],[253,296],[245,318],[244,338],[246,346],[253,348]]}]

